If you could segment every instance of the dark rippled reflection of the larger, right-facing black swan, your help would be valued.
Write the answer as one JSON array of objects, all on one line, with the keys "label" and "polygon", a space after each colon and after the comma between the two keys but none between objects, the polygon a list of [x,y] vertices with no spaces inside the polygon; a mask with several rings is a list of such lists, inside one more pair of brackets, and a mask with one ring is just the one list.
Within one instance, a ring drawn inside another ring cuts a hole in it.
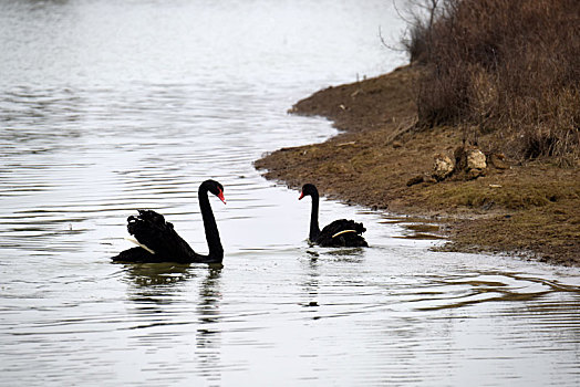
[{"label": "dark rippled reflection of the larger, right-facing black swan", "polygon": [[[176,263],[125,264],[127,282],[131,283],[130,301],[138,314],[134,330],[157,331],[135,336],[138,343],[167,346],[170,341],[194,338],[194,363],[204,379],[218,383],[221,379],[221,264],[199,266]],[[205,276],[204,276],[205,275]],[[197,299],[190,293],[189,281],[197,281]],[[180,315],[176,322],[176,314]],[[143,323],[143,322],[146,323]],[[193,327],[193,328],[191,328]]]}]

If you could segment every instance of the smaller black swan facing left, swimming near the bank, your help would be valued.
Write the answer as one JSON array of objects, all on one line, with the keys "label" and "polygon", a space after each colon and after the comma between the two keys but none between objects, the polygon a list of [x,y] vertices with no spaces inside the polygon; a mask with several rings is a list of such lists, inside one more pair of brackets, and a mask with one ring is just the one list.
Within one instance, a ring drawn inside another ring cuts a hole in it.
[{"label": "smaller black swan facing left, swimming near the bank", "polygon": [[300,198],[304,196],[312,197],[312,215],[310,216],[310,234],[311,243],[322,247],[360,247],[367,248],[369,244],[361,236],[366,229],[362,223],[356,223],[354,220],[339,219],[334,220],[329,226],[324,227],[322,231],[318,227],[318,207],[319,195],[314,185],[305,184],[302,187]]}]

